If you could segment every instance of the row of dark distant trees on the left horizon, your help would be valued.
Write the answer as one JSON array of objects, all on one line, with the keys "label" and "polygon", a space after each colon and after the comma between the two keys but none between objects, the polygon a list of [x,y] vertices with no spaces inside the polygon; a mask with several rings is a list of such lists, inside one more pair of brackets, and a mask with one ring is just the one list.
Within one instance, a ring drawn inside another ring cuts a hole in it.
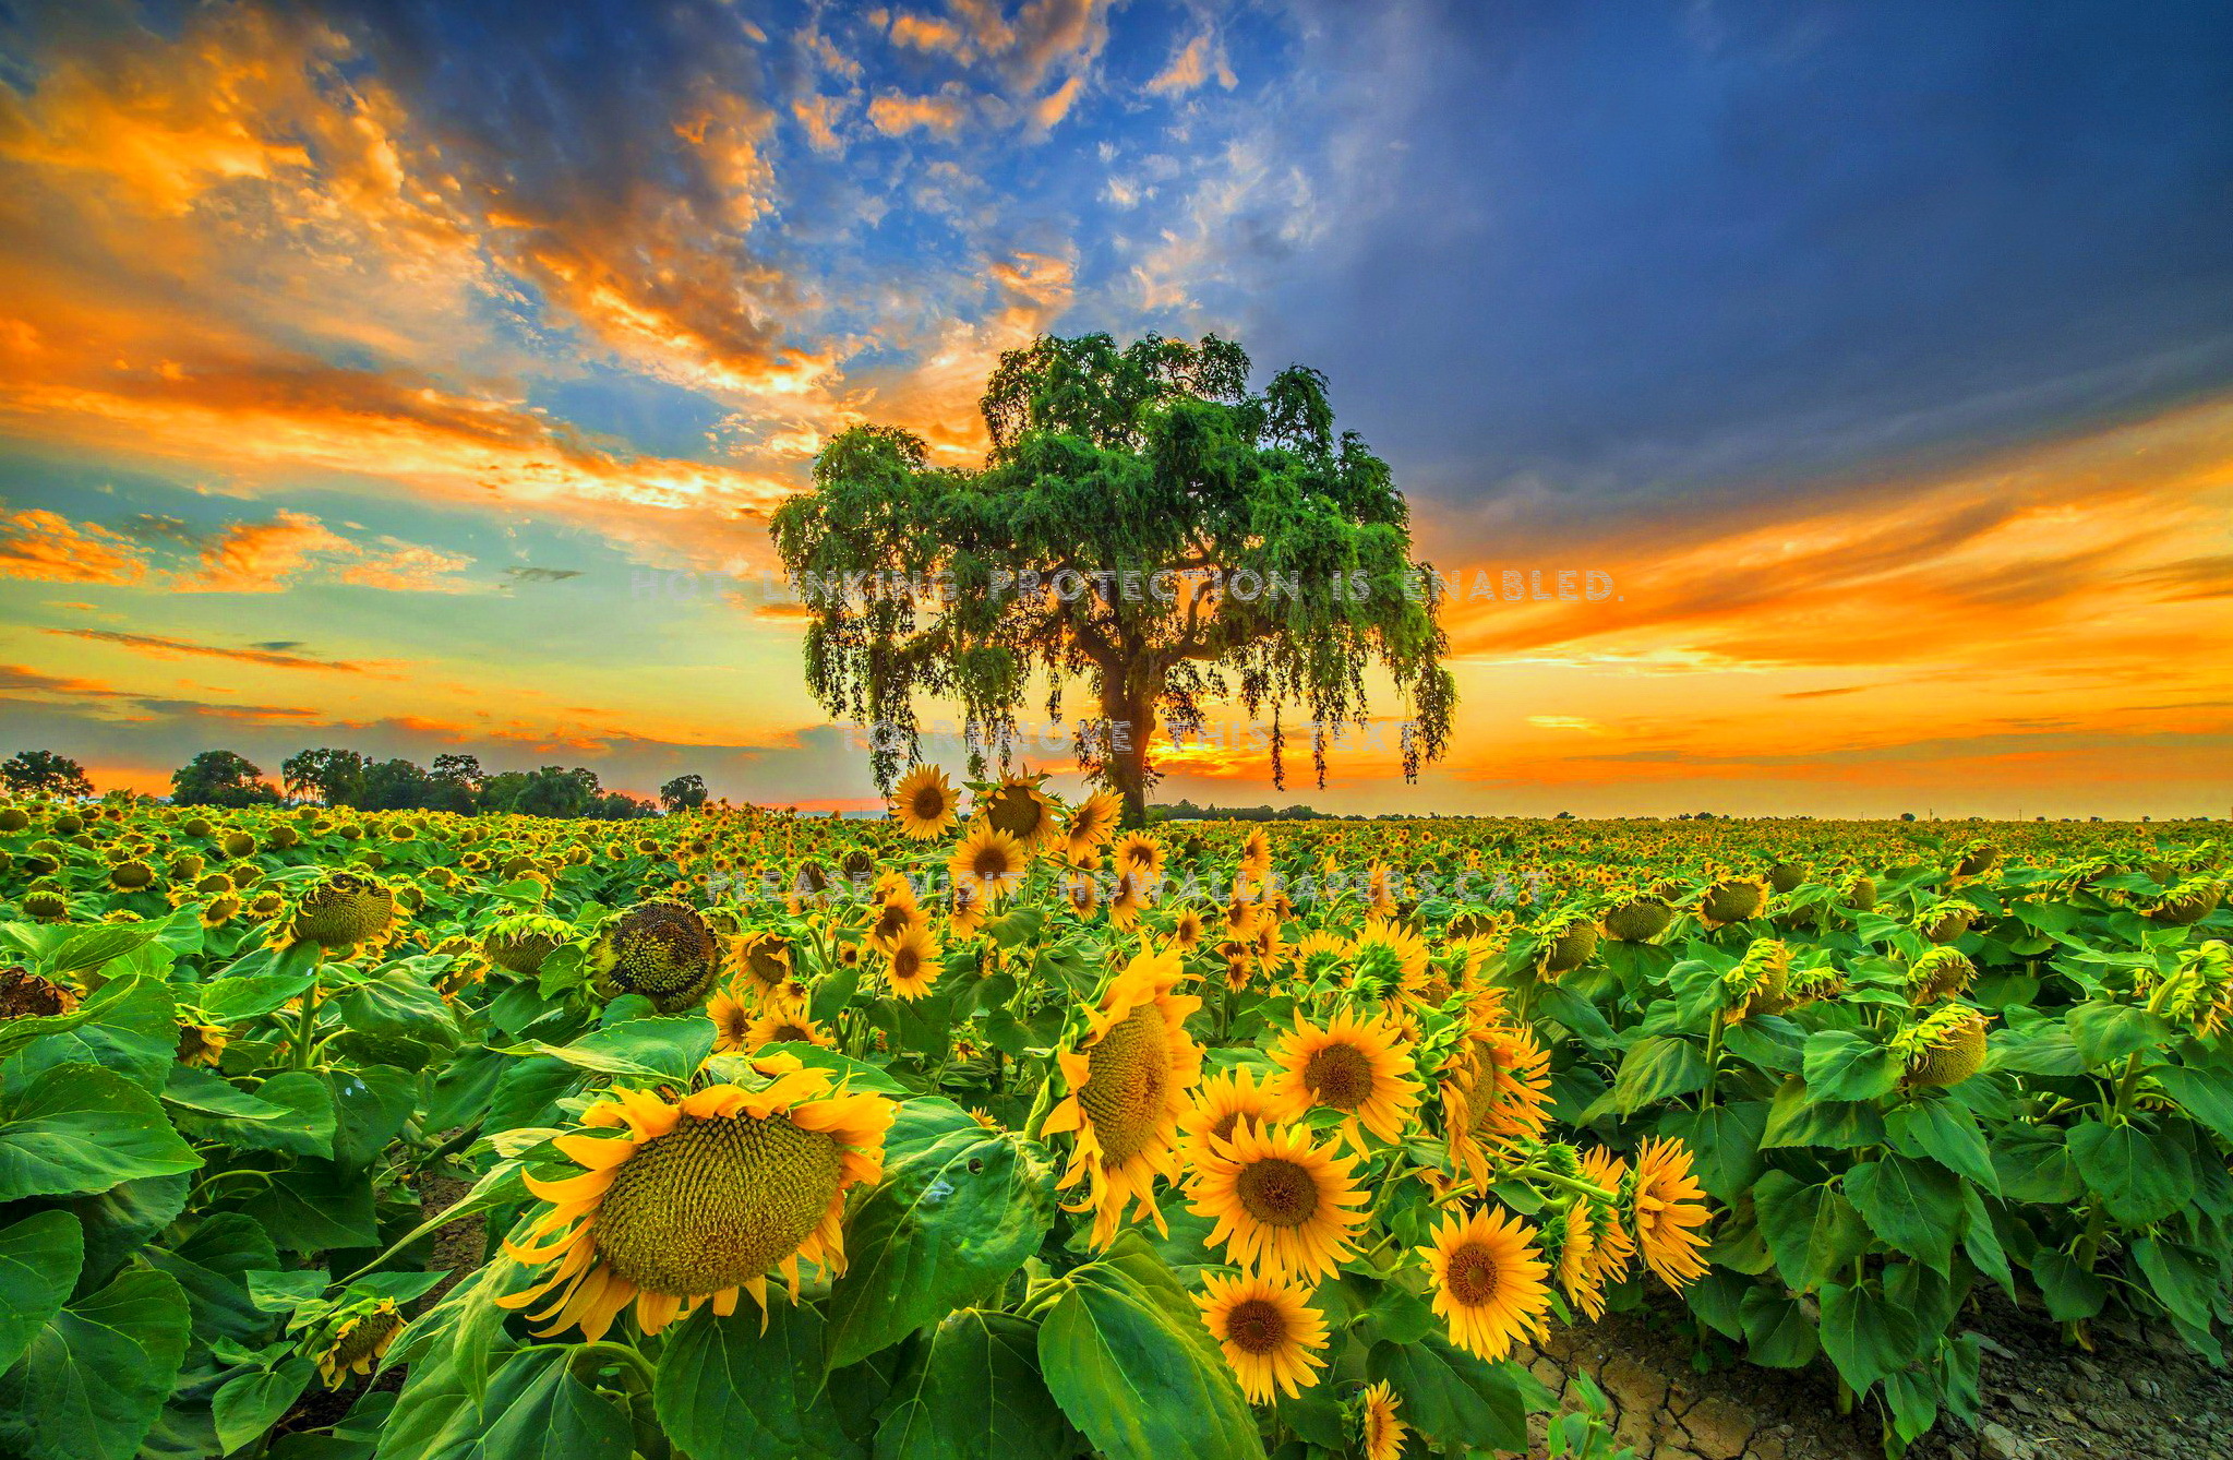
[{"label": "row of dark distant trees on the left horizon", "polygon": [[[16,795],[89,797],[85,768],[54,750],[20,750],[0,761],[0,784]],[[263,768],[232,750],[203,750],[170,777],[174,806],[281,806],[286,801],[351,806],[355,810],[453,810],[458,815],[516,813],[525,817],[581,817],[632,822],[661,810],[697,810],[706,779],[679,775],[659,788],[659,801],[605,790],[583,766],[498,770],[489,775],[473,755],[438,755],[433,766],[375,761],[355,750],[317,748],[279,766],[279,786]]]}]

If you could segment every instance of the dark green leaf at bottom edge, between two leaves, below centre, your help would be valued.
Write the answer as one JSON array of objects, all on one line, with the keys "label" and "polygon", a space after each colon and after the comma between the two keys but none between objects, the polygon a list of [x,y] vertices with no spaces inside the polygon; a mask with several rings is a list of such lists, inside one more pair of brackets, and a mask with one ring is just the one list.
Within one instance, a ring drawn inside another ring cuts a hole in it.
[{"label": "dark green leaf at bottom edge, between two leaves, below centre", "polygon": [[1070,1422],[1038,1375],[1038,1324],[962,1308],[918,1346],[875,1431],[875,1460],[1065,1460]]}]

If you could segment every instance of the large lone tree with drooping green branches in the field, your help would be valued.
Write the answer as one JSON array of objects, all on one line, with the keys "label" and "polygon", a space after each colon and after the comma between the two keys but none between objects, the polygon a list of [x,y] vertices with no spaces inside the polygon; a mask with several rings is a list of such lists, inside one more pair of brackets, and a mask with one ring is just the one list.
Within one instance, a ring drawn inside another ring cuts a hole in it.
[{"label": "large lone tree with drooping green branches in the field", "polygon": [[855,426],[773,520],[808,607],[806,683],[871,728],[887,793],[922,752],[918,692],[960,701],[980,770],[980,743],[1007,759],[1034,683],[1063,719],[1074,674],[1099,708],[1079,763],[1130,824],[1157,721],[1195,732],[1213,697],[1268,717],[1282,788],[1282,714],[1300,710],[1324,786],[1378,661],[1411,703],[1405,775],[1443,755],[1456,688],[1431,589],[1405,592],[1409,511],[1387,462],[1335,435],[1322,373],[1288,366],[1250,393],[1248,355],[1215,335],[1043,337],[1000,357],[980,409],[983,467],[938,469],[920,438]]}]

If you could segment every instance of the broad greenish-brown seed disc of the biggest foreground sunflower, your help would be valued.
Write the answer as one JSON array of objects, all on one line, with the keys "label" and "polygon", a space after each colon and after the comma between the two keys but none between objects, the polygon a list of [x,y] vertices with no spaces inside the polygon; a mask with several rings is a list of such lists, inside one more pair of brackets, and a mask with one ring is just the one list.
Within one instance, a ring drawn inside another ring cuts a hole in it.
[{"label": "broad greenish-brown seed disc of the biggest foreground sunflower", "polygon": [[648,1293],[701,1297],[799,1250],[837,1197],[837,1143],[788,1116],[683,1116],[614,1174],[596,1250]]}]

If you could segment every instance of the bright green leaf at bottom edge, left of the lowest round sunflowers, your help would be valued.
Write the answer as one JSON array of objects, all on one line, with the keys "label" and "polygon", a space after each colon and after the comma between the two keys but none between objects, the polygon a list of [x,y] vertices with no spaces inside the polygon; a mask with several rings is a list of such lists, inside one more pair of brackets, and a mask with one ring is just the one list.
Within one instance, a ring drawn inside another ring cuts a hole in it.
[{"label": "bright green leaf at bottom edge, left of the lowest round sunflowers", "polygon": [[[1038,1324],[1047,1391],[1110,1460],[1255,1460],[1255,1418],[1152,1252],[1070,1272]],[[1186,1319],[1192,1317],[1192,1324]]]}]

